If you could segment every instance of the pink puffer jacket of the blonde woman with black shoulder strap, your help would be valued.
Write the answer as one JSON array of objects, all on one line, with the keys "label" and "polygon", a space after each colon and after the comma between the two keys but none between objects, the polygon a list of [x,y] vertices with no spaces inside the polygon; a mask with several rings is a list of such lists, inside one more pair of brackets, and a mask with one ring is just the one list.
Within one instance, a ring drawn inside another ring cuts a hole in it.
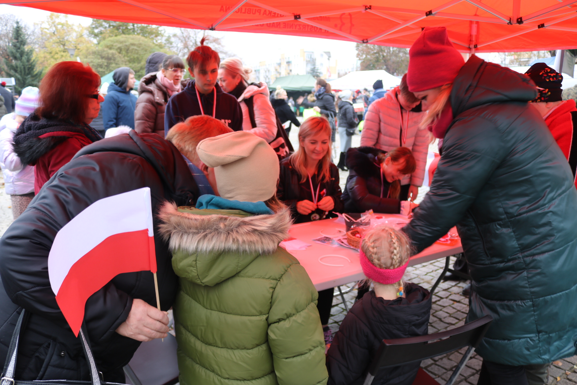
[{"label": "pink puffer jacket of the blonde woman with black shoulder strap", "polygon": [[[254,128],[250,123],[248,106],[244,102],[244,99],[248,99],[251,96],[253,96],[254,121],[256,122],[256,127]],[[253,84],[249,85],[241,97],[238,98],[242,109],[242,130],[252,132],[266,140],[267,143],[271,143],[275,139],[277,130],[275,109],[272,108],[269,96],[267,83],[263,82],[260,87]]]}]

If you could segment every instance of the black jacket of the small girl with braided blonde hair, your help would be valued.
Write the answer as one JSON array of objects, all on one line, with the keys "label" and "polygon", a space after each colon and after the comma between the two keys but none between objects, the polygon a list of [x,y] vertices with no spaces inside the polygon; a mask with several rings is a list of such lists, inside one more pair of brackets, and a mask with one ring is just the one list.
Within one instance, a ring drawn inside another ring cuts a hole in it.
[{"label": "black jacket of the small girl with braided blonde hair", "polygon": [[[344,317],[327,353],[327,385],[361,385],[383,339],[428,334],[431,311],[429,290],[415,283],[405,285],[406,298],[385,300],[374,290],[355,302]],[[374,385],[411,385],[420,362],[381,369]]]}]

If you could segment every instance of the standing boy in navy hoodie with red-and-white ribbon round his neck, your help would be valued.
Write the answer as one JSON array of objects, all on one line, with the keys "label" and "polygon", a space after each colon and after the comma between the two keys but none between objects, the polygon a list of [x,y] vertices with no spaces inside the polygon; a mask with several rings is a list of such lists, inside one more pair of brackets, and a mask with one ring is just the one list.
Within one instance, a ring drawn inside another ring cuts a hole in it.
[{"label": "standing boy in navy hoodie with red-and-white ribbon round his neck", "polygon": [[223,92],[218,85],[220,57],[204,45],[206,40],[205,36],[200,40],[200,46],[190,51],[186,58],[188,72],[194,80],[168,100],[164,110],[164,134],[193,115],[209,115],[234,131],[242,130],[241,106],[233,95]]}]

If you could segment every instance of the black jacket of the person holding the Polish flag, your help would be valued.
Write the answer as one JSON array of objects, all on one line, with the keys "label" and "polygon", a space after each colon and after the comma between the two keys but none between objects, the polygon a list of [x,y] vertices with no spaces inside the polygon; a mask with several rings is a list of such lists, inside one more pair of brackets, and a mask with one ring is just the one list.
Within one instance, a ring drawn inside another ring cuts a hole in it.
[{"label": "black jacket of the person holding the Polish flag", "polygon": [[[192,174],[173,144],[157,134],[139,136],[131,130],[130,134],[81,149],[46,182],[27,210],[6,230],[0,240],[0,276],[6,290],[0,293],[0,362],[5,360],[14,328],[14,304],[31,313],[21,334],[17,379],[89,380],[80,342],[66,323],[50,286],[48,253],[62,226],[88,205],[147,186],[151,189],[153,213],[166,200],[189,205],[198,195]],[[173,305],[178,277],[171,266],[168,244],[158,234],[159,220],[154,218],[153,223],[160,305],[166,311]],[[92,350],[108,382],[124,382],[122,367],[140,345],[115,332],[126,320],[133,298],[156,306],[151,272],[119,274],[86,302],[84,320]]]}]

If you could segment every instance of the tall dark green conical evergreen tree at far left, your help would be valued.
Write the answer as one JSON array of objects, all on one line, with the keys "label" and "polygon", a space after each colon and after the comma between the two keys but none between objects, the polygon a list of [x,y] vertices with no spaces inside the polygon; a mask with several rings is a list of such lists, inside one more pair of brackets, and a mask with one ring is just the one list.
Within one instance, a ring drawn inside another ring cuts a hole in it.
[{"label": "tall dark green conical evergreen tree at far left", "polygon": [[17,20],[12,32],[12,41],[8,47],[8,61],[6,61],[6,74],[16,80],[16,94],[20,95],[22,89],[28,86],[38,87],[42,70],[36,70],[36,59],[33,58],[34,50],[27,48],[28,41],[22,25]]}]

